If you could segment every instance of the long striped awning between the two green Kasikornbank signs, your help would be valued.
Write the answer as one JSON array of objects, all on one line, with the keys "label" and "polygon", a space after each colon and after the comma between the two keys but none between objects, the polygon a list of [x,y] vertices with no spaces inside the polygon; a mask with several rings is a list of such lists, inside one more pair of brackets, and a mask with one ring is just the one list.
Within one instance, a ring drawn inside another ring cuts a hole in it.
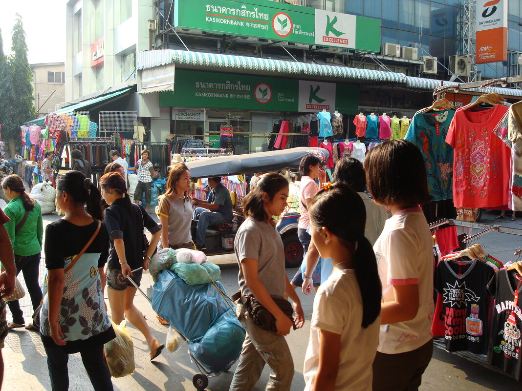
[{"label": "long striped awning between the two green Kasikornbank signs", "polygon": [[[160,52],[160,53],[158,53]],[[269,58],[234,56],[228,54],[198,53],[183,50],[157,50],[137,53],[137,68],[148,69],[165,64],[186,64],[201,68],[230,68],[268,71],[278,74],[301,74],[361,81],[406,83],[406,75],[371,69],[336,65],[318,65]]]}]

